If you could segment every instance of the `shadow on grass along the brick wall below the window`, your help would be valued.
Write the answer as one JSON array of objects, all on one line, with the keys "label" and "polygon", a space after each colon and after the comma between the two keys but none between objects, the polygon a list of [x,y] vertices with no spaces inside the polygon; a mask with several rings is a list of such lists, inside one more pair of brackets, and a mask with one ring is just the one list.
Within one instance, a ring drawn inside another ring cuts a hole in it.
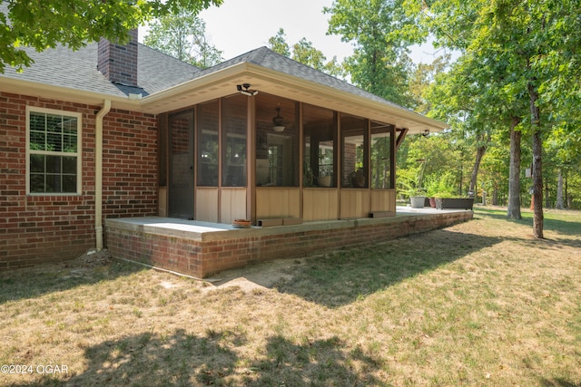
[{"label": "shadow on grass along the brick wall below the window", "polygon": [[96,267],[71,265],[71,262],[64,262],[0,272],[0,305],[62,292],[80,285],[93,285],[144,270],[143,266],[115,260]]}]

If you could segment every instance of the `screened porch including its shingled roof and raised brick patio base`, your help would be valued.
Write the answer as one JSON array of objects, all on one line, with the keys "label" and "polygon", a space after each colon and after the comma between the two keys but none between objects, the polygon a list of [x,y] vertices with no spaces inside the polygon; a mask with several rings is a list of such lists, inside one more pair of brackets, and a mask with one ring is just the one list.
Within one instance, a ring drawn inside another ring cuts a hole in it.
[{"label": "screened porch including its shingled roof and raised brick patio base", "polygon": [[158,119],[158,216],[107,218],[113,256],[205,277],[471,218],[396,214],[399,144],[446,124],[265,47],[141,106]]}]

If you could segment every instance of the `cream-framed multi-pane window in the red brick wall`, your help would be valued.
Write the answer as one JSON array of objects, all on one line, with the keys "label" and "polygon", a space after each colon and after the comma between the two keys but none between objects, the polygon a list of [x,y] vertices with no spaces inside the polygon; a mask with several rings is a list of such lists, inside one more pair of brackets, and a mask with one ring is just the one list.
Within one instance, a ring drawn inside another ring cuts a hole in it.
[{"label": "cream-framed multi-pane window in the red brick wall", "polygon": [[81,194],[82,118],[26,106],[26,194]]}]

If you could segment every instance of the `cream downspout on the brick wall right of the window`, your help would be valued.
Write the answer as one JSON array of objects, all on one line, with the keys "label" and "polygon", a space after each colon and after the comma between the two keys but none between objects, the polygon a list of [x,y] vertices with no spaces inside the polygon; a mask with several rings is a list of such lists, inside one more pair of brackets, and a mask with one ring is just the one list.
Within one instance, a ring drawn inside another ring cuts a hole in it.
[{"label": "cream downspout on the brick wall right of the window", "polygon": [[103,101],[103,108],[94,120],[94,231],[97,251],[103,249],[103,117],[111,110],[111,100]]}]

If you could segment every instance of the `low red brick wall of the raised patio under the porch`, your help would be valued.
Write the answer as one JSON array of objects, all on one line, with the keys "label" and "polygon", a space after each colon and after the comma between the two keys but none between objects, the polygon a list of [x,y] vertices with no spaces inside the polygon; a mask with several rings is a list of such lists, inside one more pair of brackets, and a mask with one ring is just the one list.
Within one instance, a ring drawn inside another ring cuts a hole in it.
[{"label": "low red brick wall of the raised patio under the porch", "polygon": [[228,230],[212,235],[167,236],[142,227],[107,222],[113,257],[203,278],[232,267],[276,258],[309,256],[340,247],[377,243],[447,227],[473,217],[472,211],[397,218],[338,220],[292,227]]}]

